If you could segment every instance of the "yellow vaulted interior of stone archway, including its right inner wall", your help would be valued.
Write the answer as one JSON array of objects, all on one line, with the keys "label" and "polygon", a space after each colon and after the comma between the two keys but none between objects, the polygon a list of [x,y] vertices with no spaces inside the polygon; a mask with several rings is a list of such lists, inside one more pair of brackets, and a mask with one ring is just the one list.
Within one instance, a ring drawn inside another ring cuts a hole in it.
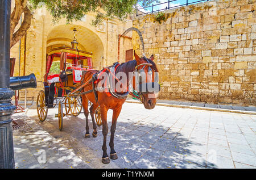
[{"label": "yellow vaulted interior of stone archway, including its right inner wall", "polygon": [[103,43],[93,31],[88,28],[76,24],[64,24],[53,27],[47,36],[46,53],[52,48],[71,47],[71,41],[74,36],[73,29],[76,28],[76,39],[79,42],[78,48],[82,51],[93,53],[93,69],[100,69],[102,57],[104,56]]}]

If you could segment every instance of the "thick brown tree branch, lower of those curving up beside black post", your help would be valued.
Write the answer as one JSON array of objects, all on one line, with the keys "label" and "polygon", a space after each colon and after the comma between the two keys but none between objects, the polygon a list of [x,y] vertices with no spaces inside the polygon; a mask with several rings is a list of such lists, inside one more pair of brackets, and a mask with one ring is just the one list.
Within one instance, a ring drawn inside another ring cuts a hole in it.
[{"label": "thick brown tree branch, lower of those curving up beside black post", "polygon": [[19,29],[13,34],[13,38],[11,39],[11,47],[13,47],[22,37],[26,34],[28,28],[30,28],[31,20],[32,20],[32,13],[30,9],[26,6],[23,9],[24,12],[24,19],[22,22],[22,25],[19,27]]}]

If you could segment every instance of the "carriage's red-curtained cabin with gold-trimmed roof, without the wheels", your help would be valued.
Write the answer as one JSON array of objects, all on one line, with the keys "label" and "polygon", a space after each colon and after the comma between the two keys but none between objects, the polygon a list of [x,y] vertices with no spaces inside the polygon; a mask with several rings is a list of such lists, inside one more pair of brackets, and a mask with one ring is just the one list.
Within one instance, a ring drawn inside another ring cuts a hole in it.
[{"label": "carriage's red-curtained cabin with gold-trimmed roof, without the wheels", "polygon": [[75,89],[81,81],[82,70],[90,69],[92,53],[68,47],[51,49],[48,52],[44,76],[48,107],[53,104],[53,97],[64,97]]}]

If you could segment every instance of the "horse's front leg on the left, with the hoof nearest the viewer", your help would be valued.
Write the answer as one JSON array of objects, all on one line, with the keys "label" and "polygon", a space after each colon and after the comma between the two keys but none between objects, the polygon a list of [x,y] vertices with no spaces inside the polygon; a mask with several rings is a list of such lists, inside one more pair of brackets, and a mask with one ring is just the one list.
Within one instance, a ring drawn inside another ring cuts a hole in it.
[{"label": "horse's front leg on the left, with the hoof nearest the viewer", "polygon": [[101,121],[102,121],[102,135],[103,135],[103,145],[102,145],[102,150],[103,150],[103,156],[102,156],[102,163],[103,164],[109,164],[109,156],[107,153],[107,146],[106,146],[106,136],[108,135],[108,122],[107,122],[107,113],[108,113],[108,108],[104,105],[101,104]]}]

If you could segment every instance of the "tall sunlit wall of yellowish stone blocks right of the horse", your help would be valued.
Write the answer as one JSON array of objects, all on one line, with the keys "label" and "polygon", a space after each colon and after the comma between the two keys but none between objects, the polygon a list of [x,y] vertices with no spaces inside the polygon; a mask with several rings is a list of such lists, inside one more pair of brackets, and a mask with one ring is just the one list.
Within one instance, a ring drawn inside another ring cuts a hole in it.
[{"label": "tall sunlit wall of yellowish stone blocks right of the horse", "polygon": [[[160,99],[256,104],[255,0],[207,1],[137,16],[146,55],[155,56]],[[134,49],[141,55],[138,36]]]}]

